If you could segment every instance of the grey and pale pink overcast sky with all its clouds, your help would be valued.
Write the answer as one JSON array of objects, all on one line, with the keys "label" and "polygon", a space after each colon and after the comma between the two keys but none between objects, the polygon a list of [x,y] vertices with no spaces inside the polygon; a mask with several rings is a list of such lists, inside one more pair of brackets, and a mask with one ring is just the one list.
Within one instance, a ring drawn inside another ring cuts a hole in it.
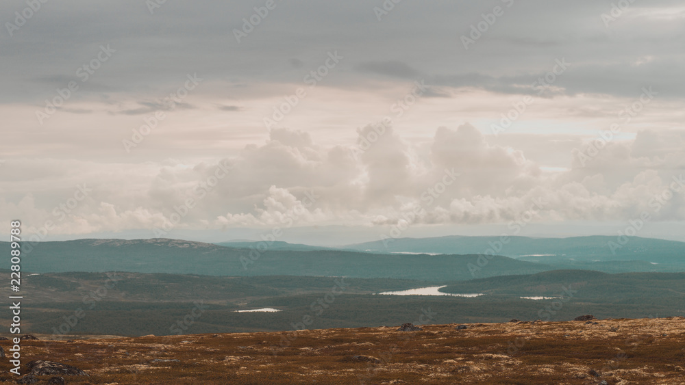
[{"label": "grey and pale pink overcast sky with all its clouds", "polygon": [[682,1],[42,1],[0,10],[34,239],[685,241]]}]

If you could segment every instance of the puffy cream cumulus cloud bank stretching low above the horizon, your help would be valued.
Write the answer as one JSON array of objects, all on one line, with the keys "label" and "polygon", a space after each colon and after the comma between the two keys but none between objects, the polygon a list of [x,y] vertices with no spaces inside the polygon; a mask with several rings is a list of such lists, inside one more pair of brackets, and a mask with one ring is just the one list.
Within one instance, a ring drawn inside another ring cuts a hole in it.
[{"label": "puffy cream cumulus cloud bank stretching low above the horizon", "polygon": [[[371,131],[359,129],[358,144]],[[680,132],[641,132],[631,142],[608,144],[591,164],[552,173],[484,136],[471,124],[439,127],[429,146],[419,146],[388,127],[359,153],[358,144],[326,147],[308,133],[275,129],[235,157],[192,166],[149,163],[136,178],[127,174],[137,165],[103,176],[99,165],[71,162],[74,174],[87,178],[53,186],[61,200],[11,191],[16,199],[3,198],[0,209],[5,220],[21,216],[34,228],[51,221],[55,234],[161,228],[182,211],[175,228],[497,224],[521,215],[536,222],[615,221],[643,212],[653,220],[685,219],[683,157],[669,144]],[[662,145],[647,150],[654,142]],[[79,183],[92,192],[67,213]]]}]

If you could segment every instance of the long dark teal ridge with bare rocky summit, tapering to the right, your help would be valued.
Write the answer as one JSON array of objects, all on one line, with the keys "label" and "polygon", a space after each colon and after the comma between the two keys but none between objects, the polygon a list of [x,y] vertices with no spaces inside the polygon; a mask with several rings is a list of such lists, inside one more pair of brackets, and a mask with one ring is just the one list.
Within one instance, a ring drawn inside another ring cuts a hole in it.
[{"label": "long dark teal ridge with bare rocky summit, tapering to the right", "polygon": [[[179,239],[79,239],[38,242],[22,260],[22,271],[128,271],[135,273],[201,274],[209,276],[347,276],[413,280],[466,280],[477,255],[370,254],[345,250],[278,250],[231,248]],[[284,247],[284,245],[281,245]],[[0,242],[10,254],[10,243]],[[9,269],[5,258],[0,267]],[[551,265],[494,256],[481,276],[530,274]]]}]

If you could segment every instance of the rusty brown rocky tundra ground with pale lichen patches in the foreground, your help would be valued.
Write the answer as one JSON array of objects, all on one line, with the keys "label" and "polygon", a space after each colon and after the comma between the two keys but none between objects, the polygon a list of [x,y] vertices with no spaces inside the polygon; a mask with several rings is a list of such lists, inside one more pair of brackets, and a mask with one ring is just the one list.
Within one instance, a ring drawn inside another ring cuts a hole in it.
[{"label": "rusty brown rocky tundra ground with pale lichen patches in the foreground", "polygon": [[[21,343],[36,384],[685,384],[685,318],[477,323]],[[10,341],[0,341],[7,354]],[[2,360],[0,381],[15,382]],[[48,369],[45,369],[48,368]],[[64,368],[64,367],[62,367]],[[66,370],[66,369],[62,369]],[[47,374],[46,374],[47,373]],[[50,379],[52,382],[49,382]],[[25,383],[30,383],[29,378]]]}]

